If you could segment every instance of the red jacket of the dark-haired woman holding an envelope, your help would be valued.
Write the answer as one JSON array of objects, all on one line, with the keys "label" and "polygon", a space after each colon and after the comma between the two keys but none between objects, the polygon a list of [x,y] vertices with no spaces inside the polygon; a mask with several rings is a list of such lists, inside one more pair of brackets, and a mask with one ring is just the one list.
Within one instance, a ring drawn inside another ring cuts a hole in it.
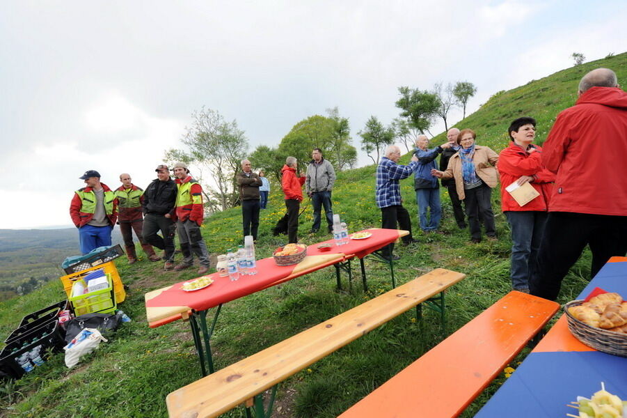
[{"label": "red jacket of the dark-haired woman holding an envelope", "polygon": [[[498,156],[498,173],[501,180],[501,208],[503,212],[507,210],[548,210],[548,201],[553,192],[553,182],[555,174],[544,168],[542,164],[542,148],[536,148],[535,153],[526,153],[523,148],[509,143],[509,146],[501,151]],[[520,206],[505,190],[505,187],[514,183],[521,176],[533,176],[534,180],[529,184],[540,194],[525,206]]]}]

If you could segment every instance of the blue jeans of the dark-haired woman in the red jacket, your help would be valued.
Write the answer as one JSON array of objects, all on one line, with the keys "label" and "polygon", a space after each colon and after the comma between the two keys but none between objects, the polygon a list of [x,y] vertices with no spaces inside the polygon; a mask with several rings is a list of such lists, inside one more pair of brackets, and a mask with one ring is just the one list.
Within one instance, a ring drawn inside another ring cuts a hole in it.
[{"label": "blue jeans of the dark-haired woman in the red jacket", "polygon": [[529,280],[537,263],[538,250],[544,235],[547,212],[539,210],[506,211],[511,230],[511,287],[529,288]]}]

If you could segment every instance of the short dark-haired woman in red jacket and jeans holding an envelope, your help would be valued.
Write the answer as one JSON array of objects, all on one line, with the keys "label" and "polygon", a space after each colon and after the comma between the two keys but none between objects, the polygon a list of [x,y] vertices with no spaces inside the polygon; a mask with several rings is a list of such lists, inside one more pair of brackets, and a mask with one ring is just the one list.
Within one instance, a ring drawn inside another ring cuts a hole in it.
[{"label": "short dark-haired woman in red jacket and jeans holding an envelope", "polygon": [[[502,210],[511,229],[511,286],[529,293],[529,279],[536,263],[546,224],[548,201],[555,174],[542,164],[542,148],[532,144],[536,136],[534,118],[518,118],[509,126],[511,143],[501,151],[498,171],[501,179]],[[520,206],[507,192],[513,184],[529,183],[539,196]]]}]

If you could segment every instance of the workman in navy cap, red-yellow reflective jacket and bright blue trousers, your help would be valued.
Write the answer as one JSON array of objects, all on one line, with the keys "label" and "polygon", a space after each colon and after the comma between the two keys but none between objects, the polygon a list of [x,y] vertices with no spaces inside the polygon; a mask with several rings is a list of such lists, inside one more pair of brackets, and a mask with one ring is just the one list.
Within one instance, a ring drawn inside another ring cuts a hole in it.
[{"label": "workman in navy cap, red-yellow reflective jacket and bright blue trousers", "polygon": [[97,171],[85,171],[79,178],[87,187],[74,192],[70,217],[79,229],[81,252],[87,254],[95,248],[111,245],[111,231],[118,218],[118,199],[107,185],[100,183]]}]

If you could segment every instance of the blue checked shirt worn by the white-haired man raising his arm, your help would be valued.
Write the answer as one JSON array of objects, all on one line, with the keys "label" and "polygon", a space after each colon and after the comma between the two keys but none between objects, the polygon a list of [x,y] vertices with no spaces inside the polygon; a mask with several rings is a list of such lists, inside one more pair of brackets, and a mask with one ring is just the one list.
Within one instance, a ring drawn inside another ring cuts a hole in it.
[{"label": "blue checked shirt worn by the white-haired man raising his arm", "polygon": [[408,178],[418,167],[418,162],[410,162],[406,166],[397,164],[388,157],[382,157],[376,167],[376,188],[374,198],[376,206],[387,208],[401,204],[401,188],[399,180]]}]

